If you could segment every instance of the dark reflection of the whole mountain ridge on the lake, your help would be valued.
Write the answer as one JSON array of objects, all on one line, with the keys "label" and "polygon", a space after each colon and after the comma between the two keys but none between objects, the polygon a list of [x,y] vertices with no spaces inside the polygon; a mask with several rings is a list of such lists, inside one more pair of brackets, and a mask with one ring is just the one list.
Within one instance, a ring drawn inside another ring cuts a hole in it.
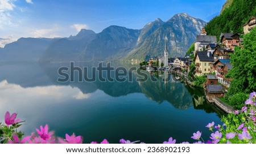
[{"label": "dark reflection of the whole mountain ridge on the lake", "polygon": [[[39,67],[40,66],[40,67]],[[195,109],[203,109],[207,113],[214,113],[220,110],[213,105],[208,104],[204,96],[204,93],[199,89],[192,89],[186,87],[184,83],[168,81],[162,82],[164,75],[158,75],[157,81],[152,81],[148,79],[145,82],[137,82],[136,79],[139,77],[135,71],[133,73],[129,72],[129,76],[132,77],[132,82],[101,82],[98,79],[95,82],[78,82],[77,76],[75,77],[75,82],[60,83],[57,82],[57,78],[60,76],[57,70],[60,67],[68,67],[69,64],[16,64],[0,66],[0,71],[5,72],[0,76],[0,81],[7,80],[9,83],[19,84],[24,88],[27,87],[37,87],[46,85],[70,85],[71,87],[79,88],[84,94],[93,93],[100,89],[106,94],[112,97],[126,96],[131,93],[143,93],[148,99],[161,104],[164,101],[170,102],[177,109],[188,109],[192,105]],[[85,63],[75,63],[75,66],[85,67],[88,66],[89,78],[92,75],[91,66],[97,66],[95,64],[85,64]],[[112,66],[119,67],[123,66],[118,63],[112,63]],[[131,67],[131,66],[129,66]],[[126,67],[126,68],[129,68]],[[17,76],[13,76],[14,72]],[[76,72],[77,73],[77,72]],[[148,77],[152,76],[150,73],[146,72]],[[168,76],[171,76],[168,74]],[[113,72],[112,72],[112,77]]]}]

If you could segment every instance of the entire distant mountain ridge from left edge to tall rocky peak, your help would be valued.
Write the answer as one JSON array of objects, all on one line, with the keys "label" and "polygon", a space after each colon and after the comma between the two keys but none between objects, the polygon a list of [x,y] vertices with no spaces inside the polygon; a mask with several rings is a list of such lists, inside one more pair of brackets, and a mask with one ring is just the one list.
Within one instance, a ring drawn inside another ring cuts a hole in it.
[{"label": "entire distant mountain ridge from left edge to tall rocky peak", "polygon": [[100,33],[81,29],[66,38],[20,38],[0,49],[0,62],[143,61],[163,55],[165,37],[171,57],[182,57],[205,24],[181,13],[166,22],[158,18],[142,29],[112,25]]}]

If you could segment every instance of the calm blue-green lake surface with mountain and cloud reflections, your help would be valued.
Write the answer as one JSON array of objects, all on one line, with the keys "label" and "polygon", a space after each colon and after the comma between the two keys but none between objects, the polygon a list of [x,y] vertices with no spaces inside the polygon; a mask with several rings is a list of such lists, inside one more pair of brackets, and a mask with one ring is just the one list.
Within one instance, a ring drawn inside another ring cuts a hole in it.
[{"label": "calm blue-green lake surface with mountain and cloud reflections", "polygon": [[122,138],[163,143],[170,136],[177,143],[193,142],[197,130],[208,140],[206,124],[221,123],[223,112],[208,104],[201,90],[180,81],[164,83],[158,76],[156,82],[138,83],[138,75],[129,73],[133,82],[59,83],[61,66],[69,64],[2,64],[0,121],[7,110],[17,112],[18,118],[26,120],[20,127],[26,135],[48,124],[57,136],[75,132],[84,143],[103,139],[119,143]]}]

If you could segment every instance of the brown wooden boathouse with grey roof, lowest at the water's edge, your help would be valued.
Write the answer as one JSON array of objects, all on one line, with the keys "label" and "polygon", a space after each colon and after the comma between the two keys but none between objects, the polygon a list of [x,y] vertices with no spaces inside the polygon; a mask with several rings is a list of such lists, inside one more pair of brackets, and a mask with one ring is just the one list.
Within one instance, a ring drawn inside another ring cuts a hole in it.
[{"label": "brown wooden boathouse with grey roof, lowest at the water's edge", "polygon": [[207,84],[205,85],[205,91],[208,100],[212,100],[213,97],[223,97],[225,95],[225,89],[221,84]]}]

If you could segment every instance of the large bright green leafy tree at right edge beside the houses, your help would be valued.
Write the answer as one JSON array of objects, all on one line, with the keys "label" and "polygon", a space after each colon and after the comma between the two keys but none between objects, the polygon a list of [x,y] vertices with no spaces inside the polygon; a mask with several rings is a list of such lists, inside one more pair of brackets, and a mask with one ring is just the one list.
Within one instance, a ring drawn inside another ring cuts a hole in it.
[{"label": "large bright green leafy tree at right edge beside the houses", "polygon": [[256,89],[256,29],[252,29],[243,38],[243,48],[236,48],[230,60],[233,68],[227,77],[233,77],[228,96]]}]

